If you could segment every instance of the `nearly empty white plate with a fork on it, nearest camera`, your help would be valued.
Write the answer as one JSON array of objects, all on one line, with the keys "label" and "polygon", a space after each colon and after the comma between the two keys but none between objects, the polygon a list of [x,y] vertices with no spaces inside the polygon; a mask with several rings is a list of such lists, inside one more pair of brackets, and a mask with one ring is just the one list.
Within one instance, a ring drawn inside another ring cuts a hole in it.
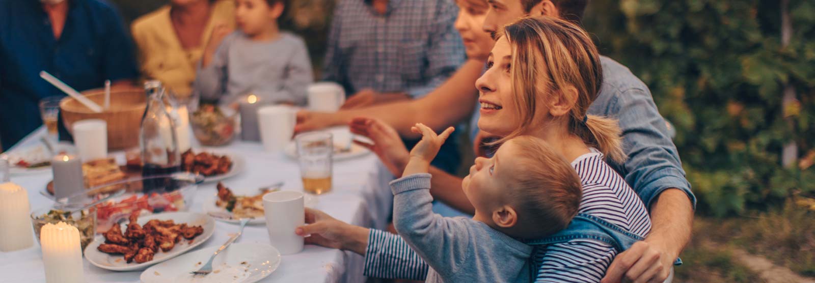
[{"label": "nearly empty white plate with a fork on it, nearest camera", "polygon": [[252,283],[269,276],[280,266],[280,252],[274,246],[234,243],[215,257],[212,273],[192,276],[190,272],[198,270],[217,249],[218,246],[213,246],[196,250],[156,264],[142,272],[139,279],[143,283]]}]

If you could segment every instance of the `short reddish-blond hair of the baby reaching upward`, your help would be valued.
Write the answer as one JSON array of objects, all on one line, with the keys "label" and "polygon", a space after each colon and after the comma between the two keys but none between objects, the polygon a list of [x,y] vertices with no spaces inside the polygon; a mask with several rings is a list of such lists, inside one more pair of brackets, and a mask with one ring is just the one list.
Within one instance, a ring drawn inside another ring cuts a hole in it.
[{"label": "short reddish-blond hair of the baby reaching upward", "polygon": [[518,210],[522,237],[545,237],[565,229],[577,215],[583,187],[575,168],[537,137],[514,137],[521,155],[513,156],[517,172],[509,181],[509,202]]}]

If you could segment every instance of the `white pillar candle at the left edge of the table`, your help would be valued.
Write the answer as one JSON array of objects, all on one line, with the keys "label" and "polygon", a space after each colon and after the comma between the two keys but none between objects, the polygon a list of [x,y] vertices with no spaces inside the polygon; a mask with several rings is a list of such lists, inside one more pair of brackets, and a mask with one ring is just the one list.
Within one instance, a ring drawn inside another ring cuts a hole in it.
[{"label": "white pillar candle at the left edge of the table", "polygon": [[25,189],[11,182],[0,184],[0,250],[21,250],[34,244],[29,213]]}]

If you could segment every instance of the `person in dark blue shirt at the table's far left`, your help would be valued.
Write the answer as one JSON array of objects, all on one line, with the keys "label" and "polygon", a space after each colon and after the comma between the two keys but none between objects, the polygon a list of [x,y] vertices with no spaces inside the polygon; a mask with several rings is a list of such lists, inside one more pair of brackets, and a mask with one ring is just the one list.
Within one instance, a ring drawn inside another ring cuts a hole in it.
[{"label": "person in dark blue shirt at the table's far left", "polygon": [[65,95],[41,71],[78,91],[139,76],[121,16],[99,0],[0,0],[0,66],[3,150],[42,125],[40,99]]}]

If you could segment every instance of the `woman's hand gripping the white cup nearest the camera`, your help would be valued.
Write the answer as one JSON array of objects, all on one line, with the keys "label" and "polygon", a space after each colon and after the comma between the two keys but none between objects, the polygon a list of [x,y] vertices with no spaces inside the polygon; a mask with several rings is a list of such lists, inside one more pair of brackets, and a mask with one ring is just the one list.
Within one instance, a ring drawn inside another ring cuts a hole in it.
[{"label": "woman's hand gripping the white cup nearest the camera", "polygon": [[[306,225],[294,229],[306,244],[365,254],[368,229],[336,220],[323,211],[306,207]],[[310,236],[311,235],[311,236]]]}]

